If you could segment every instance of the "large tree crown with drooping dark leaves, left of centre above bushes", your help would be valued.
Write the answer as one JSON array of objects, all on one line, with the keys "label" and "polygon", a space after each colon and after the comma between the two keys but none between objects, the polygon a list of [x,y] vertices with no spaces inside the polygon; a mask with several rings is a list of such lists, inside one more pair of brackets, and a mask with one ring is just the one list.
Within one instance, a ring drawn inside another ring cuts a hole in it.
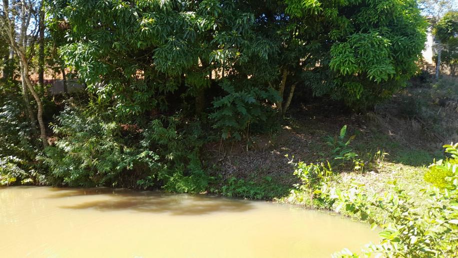
[{"label": "large tree crown with drooping dark leaves, left of centre above bushes", "polygon": [[230,1],[75,0],[63,12],[74,41],[62,48],[67,66],[89,90],[103,82],[97,94],[118,117],[169,109],[175,92],[197,97],[251,55],[240,49],[252,43],[253,18]]}]

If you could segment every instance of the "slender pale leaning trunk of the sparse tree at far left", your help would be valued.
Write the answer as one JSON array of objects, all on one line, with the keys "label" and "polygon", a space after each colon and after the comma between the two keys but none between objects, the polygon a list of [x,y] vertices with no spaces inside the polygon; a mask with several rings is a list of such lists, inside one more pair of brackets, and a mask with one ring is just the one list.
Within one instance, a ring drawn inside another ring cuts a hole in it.
[{"label": "slender pale leaning trunk of the sparse tree at far left", "polygon": [[20,64],[22,78],[25,82],[25,85],[27,86],[28,90],[30,91],[30,93],[32,94],[36,102],[36,106],[38,109],[36,112],[36,117],[37,117],[38,125],[40,128],[40,138],[41,138],[41,141],[43,142],[43,147],[46,147],[47,146],[47,137],[46,137],[46,127],[43,121],[43,104],[41,103],[41,100],[38,94],[35,92],[35,89],[33,88],[33,85],[30,82],[30,78],[28,75],[28,63],[27,63],[25,56],[23,55],[23,53],[21,53],[20,50],[17,51],[17,55],[19,56],[19,60],[20,60],[19,64]]}]

